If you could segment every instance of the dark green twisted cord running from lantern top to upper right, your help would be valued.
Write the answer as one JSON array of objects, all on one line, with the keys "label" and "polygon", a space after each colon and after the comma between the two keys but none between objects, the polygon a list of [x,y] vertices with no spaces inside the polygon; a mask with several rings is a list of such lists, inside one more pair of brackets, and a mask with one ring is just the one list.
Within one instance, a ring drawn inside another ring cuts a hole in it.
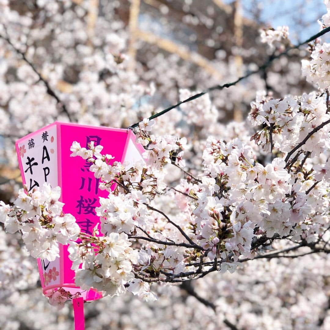
[{"label": "dark green twisted cord running from lantern top to upper right", "polygon": [[[166,109],[164,109],[163,111],[161,111],[161,112],[159,112],[159,113],[157,113],[157,114],[154,114],[154,115],[150,116],[148,119],[150,120],[150,119],[154,119],[154,118],[157,118],[157,117],[159,117],[159,116],[162,116],[162,115],[166,114],[168,111],[170,111],[170,110],[172,110],[172,109],[174,109],[174,108],[179,107],[181,104],[186,103],[186,102],[189,102],[189,101],[192,101],[192,100],[195,100],[195,99],[197,99],[197,98],[199,98],[199,97],[201,97],[201,96],[203,96],[203,95],[205,95],[205,94],[207,94],[207,93],[209,93],[209,92],[211,92],[211,91],[213,91],[213,90],[216,90],[216,89],[217,89],[217,90],[221,90],[221,89],[224,89],[224,88],[228,88],[228,87],[230,87],[230,86],[234,86],[234,85],[236,85],[238,82],[240,82],[241,80],[243,80],[243,79],[245,79],[245,78],[248,78],[249,76],[254,75],[254,74],[256,74],[256,73],[258,73],[258,72],[260,72],[260,71],[265,70],[267,67],[269,67],[269,66],[271,65],[271,63],[272,63],[275,59],[280,58],[280,57],[283,56],[283,55],[288,55],[288,52],[289,52],[290,50],[292,50],[292,49],[298,49],[300,46],[302,46],[302,45],[304,45],[304,44],[307,44],[307,43],[309,43],[309,42],[311,42],[311,41],[313,41],[313,40],[315,40],[315,39],[321,37],[322,35],[328,33],[329,31],[330,31],[330,26],[327,27],[327,28],[325,28],[325,29],[323,29],[322,31],[320,31],[320,32],[318,32],[318,33],[316,33],[316,34],[314,34],[312,37],[310,37],[310,38],[308,38],[307,40],[305,40],[305,41],[299,43],[298,45],[296,45],[296,46],[292,46],[292,47],[289,47],[289,48],[286,49],[284,52],[282,52],[282,53],[280,53],[280,54],[278,54],[278,55],[276,55],[276,56],[271,55],[271,56],[268,58],[268,60],[267,60],[263,65],[259,66],[256,70],[249,71],[245,76],[242,76],[242,77],[238,78],[238,79],[235,80],[234,82],[230,82],[230,83],[225,83],[225,84],[223,84],[223,85],[215,85],[215,86],[209,87],[208,89],[206,89],[206,90],[203,91],[203,92],[200,92],[200,93],[198,93],[198,94],[192,95],[192,96],[188,97],[187,99],[185,99],[185,100],[183,100],[183,101],[180,101],[179,103],[177,103],[177,104],[175,104],[175,105],[172,105],[171,107],[166,108]],[[135,123],[135,124],[129,126],[128,129],[132,129],[132,128],[134,128],[134,127],[137,127],[138,125],[139,125],[139,123],[137,122],[137,123]]]}]

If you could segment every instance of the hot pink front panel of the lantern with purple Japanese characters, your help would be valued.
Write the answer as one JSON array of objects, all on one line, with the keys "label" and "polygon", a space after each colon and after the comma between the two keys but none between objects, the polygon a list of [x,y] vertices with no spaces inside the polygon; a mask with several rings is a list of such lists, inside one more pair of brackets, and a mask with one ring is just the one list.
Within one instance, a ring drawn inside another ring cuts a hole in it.
[{"label": "hot pink front panel of the lantern with purple Japanese characters", "polygon": [[[98,189],[99,179],[89,172],[90,163],[81,157],[70,157],[70,147],[73,141],[87,148],[87,144],[94,141],[94,145],[102,145],[102,153],[109,153],[115,157],[112,161],[121,161],[128,138],[127,130],[88,127],[79,125],[60,126],[61,137],[61,186],[62,200],[65,203],[64,212],[76,217],[83,232],[92,234],[92,230],[99,217],[95,207],[99,206],[98,197],[107,197],[108,192]],[[68,258],[67,247],[63,246],[64,283],[74,283],[75,273],[71,270],[72,262]]]}]

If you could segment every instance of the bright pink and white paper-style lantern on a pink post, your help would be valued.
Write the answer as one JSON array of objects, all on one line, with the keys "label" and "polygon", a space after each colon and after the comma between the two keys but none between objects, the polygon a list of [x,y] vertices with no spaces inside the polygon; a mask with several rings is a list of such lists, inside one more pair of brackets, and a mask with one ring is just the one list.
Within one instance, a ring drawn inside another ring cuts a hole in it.
[{"label": "bright pink and white paper-style lantern on a pink post", "polygon": [[[143,160],[143,147],[135,142],[131,130],[92,127],[71,123],[54,122],[16,142],[19,168],[23,183],[30,191],[42,186],[44,182],[52,187],[61,187],[60,201],[65,203],[63,211],[76,217],[81,231],[92,234],[100,222],[95,207],[99,205],[98,197],[107,197],[106,190],[99,190],[99,180],[89,172],[91,163],[81,157],[70,157],[73,141],[88,149],[88,144],[102,145],[104,154],[111,154],[112,161],[128,162]],[[100,235],[102,235],[100,233]],[[64,288],[71,294],[80,292],[75,285],[75,272],[71,270],[67,246],[59,245],[60,256],[54,261],[38,259],[38,267],[43,293],[48,290]],[[102,298],[94,289],[84,291],[73,300],[76,329],[83,329],[83,301]]]}]

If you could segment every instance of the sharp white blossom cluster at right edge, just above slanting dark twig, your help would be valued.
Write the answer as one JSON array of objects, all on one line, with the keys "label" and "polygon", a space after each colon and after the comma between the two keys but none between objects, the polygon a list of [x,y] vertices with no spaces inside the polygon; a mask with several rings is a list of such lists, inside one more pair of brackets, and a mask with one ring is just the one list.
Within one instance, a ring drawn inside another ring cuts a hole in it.
[{"label": "sharp white blossom cluster at right edge, just above slanting dark twig", "polygon": [[251,103],[250,120],[252,125],[263,125],[263,129],[253,135],[253,139],[265,151],[272,145],[283,153],[290,152],[302,143],[303,151],[311,152],[312,157],[328,148],[328,125],[313,130],[330,118],[324,97],[315,92],[301,97],[287,96],[283,99],[258,97]]}]

